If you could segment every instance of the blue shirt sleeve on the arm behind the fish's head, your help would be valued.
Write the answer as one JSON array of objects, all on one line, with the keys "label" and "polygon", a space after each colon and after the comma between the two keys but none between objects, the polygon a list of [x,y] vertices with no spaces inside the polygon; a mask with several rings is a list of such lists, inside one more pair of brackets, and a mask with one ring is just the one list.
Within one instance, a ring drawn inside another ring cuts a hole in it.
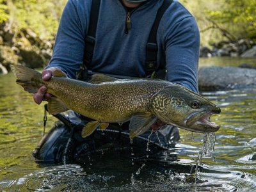
[{"label": "blue shirt sleeve on the arm behind the fish's head", "polygon": [[165,42],[167,81],[198,93],[200,34],[194,17],[186,17],[169,28]]}]

